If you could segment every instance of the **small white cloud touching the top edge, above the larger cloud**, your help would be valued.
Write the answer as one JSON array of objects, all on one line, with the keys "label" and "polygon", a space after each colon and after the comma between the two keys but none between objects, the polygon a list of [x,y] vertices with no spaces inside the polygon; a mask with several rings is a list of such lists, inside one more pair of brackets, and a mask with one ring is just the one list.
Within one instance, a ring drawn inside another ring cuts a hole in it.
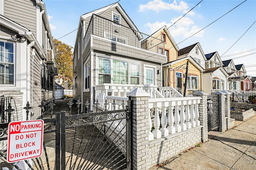
[{"label": "small white cloud touching the top edge, above the larger cloud", "polygon": [[170,1],[168,3],[163,2],[162,0],[153,0],[147,4],[141,4],[139,12],[143,12],[147,9],[156,12],[160,12],[161,10],[176,10],[184,13],[188,9],[188,4],[184,1],[180,1],[179,4],[177,4],[176,0],[174,0],[172,3],[170,3]]}]

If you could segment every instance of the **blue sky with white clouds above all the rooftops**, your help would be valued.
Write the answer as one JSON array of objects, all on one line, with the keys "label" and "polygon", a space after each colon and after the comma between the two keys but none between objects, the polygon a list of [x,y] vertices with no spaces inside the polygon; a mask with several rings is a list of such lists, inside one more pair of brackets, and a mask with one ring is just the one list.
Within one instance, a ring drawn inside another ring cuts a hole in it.
[{"label": "blue sky with white clouds above all the rooftops", "polygon": [[[113,4],[118,0],[43,1],[52,36],[59,39],[78,28],[81,15]],[[200,1],[120,0],[119,4],[139,31],[151,35],[164,25],[170,27]],[[179,49],[199,42],[205,54],[218,51],[222,56],[234,45],[221,57],[222,61],[234,59],[235,64],[244,64],[248,75],[256,76],[256,23],[254,23],[256,21],[256,0],[247,0],[238,6],[243,1],[203,0],[200,2],[169,29]],[[235,8],[236,6],[238,7]],[[235,9],[232,10],[233,8]],[[229,12],[230,10],[232,11]],[[229,13],[226,14],[227,12]],[[224,14],[226,15],[220,18]],[[218,18],[220,19],[217,20]],[[209,25],[210,23],[212,24]],[[207,25],[209,26],[206,27]],[[202,31],[193,35],[202,28],[204,28]],[[193,36],[190,37],[191,35]],[[59,40],[74,47],[75,38],[76,30]]]}]

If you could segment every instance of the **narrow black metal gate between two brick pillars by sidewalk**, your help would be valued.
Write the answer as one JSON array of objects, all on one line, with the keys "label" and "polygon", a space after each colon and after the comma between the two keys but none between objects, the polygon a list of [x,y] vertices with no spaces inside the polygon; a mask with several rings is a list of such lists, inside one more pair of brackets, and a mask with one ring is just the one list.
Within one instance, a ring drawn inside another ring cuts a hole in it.
[{"label": "narrow black metal gate between two brick pillars by sidewalk", "polygon": [[208,95],[207,98],[208,131],[218,128],[218,96]]}]

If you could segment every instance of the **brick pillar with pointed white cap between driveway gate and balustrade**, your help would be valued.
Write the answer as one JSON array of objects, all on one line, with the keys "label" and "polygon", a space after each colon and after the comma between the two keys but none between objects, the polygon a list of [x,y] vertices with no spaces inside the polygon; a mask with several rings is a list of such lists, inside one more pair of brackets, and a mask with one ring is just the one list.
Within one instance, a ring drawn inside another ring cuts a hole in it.
[{"label": "brick pillar with pointed white cap between driveway gate and balustrade", "polygon": [[132,169],[148,170],[148,97],[150,94],[136,88],[127,96],[132,96]]}]

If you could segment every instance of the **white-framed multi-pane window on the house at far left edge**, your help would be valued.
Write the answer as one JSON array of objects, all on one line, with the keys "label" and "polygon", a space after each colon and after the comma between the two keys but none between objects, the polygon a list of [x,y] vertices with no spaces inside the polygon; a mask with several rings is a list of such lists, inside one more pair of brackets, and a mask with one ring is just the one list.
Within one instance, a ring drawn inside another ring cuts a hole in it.
[{"label": "white-framed multi-pane window on the house at far left edge", "polygon": [[0,84],[14,84],[14,43],[0,41]]}]

